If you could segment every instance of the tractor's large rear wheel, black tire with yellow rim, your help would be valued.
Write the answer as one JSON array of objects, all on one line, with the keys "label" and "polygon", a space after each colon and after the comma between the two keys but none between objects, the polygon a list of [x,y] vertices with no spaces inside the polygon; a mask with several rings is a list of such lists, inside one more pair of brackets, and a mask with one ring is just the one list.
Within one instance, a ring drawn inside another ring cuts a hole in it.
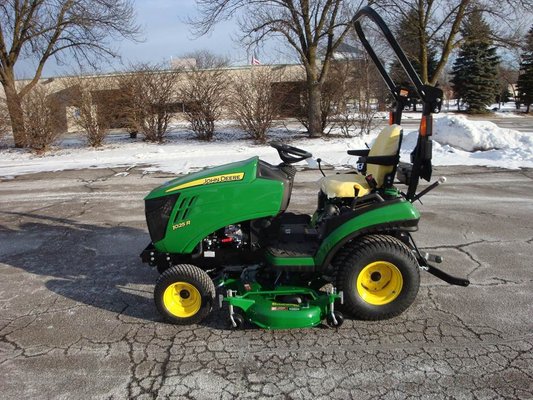
[{"label": "tractor's large rear wheel, black tire with yellow rim", "polygon": [[418,262],[393,236],[369,235],[342,249],[333,261],[344,310],[364,320],[381,320],[405,311],[420,286]]}]

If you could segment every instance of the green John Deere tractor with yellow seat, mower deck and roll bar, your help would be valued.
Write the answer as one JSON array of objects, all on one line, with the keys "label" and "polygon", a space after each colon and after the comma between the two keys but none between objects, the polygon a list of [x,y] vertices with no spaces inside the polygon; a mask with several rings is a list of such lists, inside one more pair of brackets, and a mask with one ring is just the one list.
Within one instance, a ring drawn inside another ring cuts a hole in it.
[{"label": "green John Deere tractor with yellow seat, mower deck and roll bar", "polygon": [[[411,163],[399,162],[409,91],[387,74],[365,38],[363,18],[382,31],[423,103]],[[372,148],[348,151],[359,157],[358,172],[322,178],[312,216],[286,212],[292,164],[311,157],[286,144],[272,143],[279,165],[253,157],[154,189],[145,199],[152,240],[141,258],[161,273],[154,296],[167,321],[202,321],[216,303],[216,288],[233,328],[286,329],[324,320],[340,326],[339,310],[366,320],[396,316],[414,301],[421,270],[469,284],[430,264],[442,259],[419,251],[411,236],[420,218],[413,202],[441,183],[417,193],[419,179],[431,178],[431,114],[440,109],[442,91],[421,83],[374,10],[363,8],[353,24],[395,99],[390,125]],[[406,193],[395,178],[407,185]]]}]

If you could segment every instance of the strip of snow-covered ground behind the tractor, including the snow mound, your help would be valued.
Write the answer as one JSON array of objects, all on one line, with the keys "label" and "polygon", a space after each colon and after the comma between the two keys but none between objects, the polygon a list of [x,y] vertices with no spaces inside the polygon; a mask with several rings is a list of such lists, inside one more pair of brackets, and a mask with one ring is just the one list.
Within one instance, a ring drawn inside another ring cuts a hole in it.
[{"label": "strip of snow-covered ground behind the tractor, including the snow mound", "polygon": [[[353,166],[356,157],[346,154],[348,149],[371,145],[375,132],[364,137],[309,139],[298,128],[277,129],[272,139],[284,140],[322,158],[334,167]],[[276,150],[268,145],[255,145],[228,125],[222,127],[211,143],[191,139],[183,127],[176,127],[164,144],[132,140],[126,134],[111,135],[100,149],[90,149],[78,138],[63,139],[44,156],[26,150],[0,150],[0,177],[10,177],[43,171],[66,169],[134,167],[143,170],[187,173],[206,166],[242,160],[254,155],[271,163],[278,163]],[[401,156],[409,161],[417,132],[405,132]],[[518,132],[500,128],[492,122],[472,121],[460,115],[439,115],[434,124],[434,165],[483,165],[502,168],[533,168],[533,132]],[[301,163],[315,166],[316,163]]]}]

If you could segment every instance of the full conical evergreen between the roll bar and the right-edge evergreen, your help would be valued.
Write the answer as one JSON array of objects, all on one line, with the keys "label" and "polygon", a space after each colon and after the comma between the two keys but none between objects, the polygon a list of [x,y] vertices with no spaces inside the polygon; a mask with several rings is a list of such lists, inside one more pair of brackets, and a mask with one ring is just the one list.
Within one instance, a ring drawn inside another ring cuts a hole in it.
[{"label": "full conical evergreen between the roll bar and the right-edge evergreen", "polygon": [[464,44],[455,60],[452,84],[455,96],[470,113],[487,112],[498,96],[499,57],[492,46],[491,30],[481,12],[473,12],[463,28]]}]

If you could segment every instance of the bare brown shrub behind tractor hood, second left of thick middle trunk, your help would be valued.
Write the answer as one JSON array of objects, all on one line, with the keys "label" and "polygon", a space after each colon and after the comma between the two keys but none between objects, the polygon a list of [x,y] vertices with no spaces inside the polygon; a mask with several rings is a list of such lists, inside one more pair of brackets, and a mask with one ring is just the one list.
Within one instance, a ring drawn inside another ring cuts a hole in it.
[{"label": "bare brown shrub behind tractor hood, second left of thick middle trunk", "polygon": [[[179,93],[185,103],[185,116],[197,139],[212,140],[215,122],[220,119],[227,101],[228,76],[223,69],[227,59],[201,52],[195,67],[184,72],[185,82]],[[189,55],[188,57],[194,57]]]}]

